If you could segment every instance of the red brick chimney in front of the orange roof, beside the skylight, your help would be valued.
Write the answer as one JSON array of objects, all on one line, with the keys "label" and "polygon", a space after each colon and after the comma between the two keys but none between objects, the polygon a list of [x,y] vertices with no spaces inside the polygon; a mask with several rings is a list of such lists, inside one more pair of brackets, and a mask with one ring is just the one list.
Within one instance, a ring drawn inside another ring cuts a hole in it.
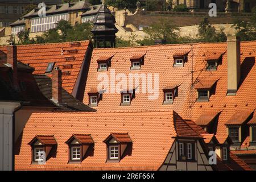
[{"label": "red brick chimney in front of the orange roof, beside the skylight", "polygon": [[61,70],[56,67],[52,71],[52,100],[61,103],[62,102],[62,81],[61,81]]}]

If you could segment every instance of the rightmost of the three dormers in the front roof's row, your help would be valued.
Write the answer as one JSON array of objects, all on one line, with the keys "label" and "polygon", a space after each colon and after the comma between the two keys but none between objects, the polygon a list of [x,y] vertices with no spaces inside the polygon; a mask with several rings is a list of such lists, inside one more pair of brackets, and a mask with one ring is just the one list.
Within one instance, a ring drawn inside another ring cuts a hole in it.
[{"label": "rightmost of the three dormers in the front roof's row", "polygon": [[119,162],[125,155],[131,155],[133,142],[128,133],[112,133],[104,143],[107,146],[108,162]]}]

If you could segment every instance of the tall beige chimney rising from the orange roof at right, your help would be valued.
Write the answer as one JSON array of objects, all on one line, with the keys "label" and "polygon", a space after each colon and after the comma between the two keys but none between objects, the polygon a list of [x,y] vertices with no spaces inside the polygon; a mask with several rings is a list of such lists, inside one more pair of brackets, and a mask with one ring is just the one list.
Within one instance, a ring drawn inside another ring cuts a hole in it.
[{"label": "tall beige chimney rising from the orange roof at right", "polygon": [[240,37],[228,36],[228,96],[236,96],[241,77]]}]

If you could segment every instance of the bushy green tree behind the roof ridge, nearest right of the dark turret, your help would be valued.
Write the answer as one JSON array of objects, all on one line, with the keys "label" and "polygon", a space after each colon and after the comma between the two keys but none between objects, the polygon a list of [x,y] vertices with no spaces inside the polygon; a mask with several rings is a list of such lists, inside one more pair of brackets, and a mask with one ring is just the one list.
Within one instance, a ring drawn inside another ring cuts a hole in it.
[{"label": "bushy green tree behind the roof ridge, nearest right of the dark turret", "polygon": [[180,36],[178,31],[179,28],[170,19],[161,18],[157,23],[144,28],[144,32],[148,34],[144,43],[154,43],[155,39],[163,39],[170,44],[177,43]]}]

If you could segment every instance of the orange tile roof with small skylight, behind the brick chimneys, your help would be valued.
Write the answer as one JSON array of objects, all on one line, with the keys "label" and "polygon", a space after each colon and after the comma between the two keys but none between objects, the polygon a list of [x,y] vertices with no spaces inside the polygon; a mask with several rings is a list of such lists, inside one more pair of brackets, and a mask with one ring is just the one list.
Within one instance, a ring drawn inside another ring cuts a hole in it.
[{"label": "orange tile roof with small skylight, behind the brick chimneys", "polygon": [[[68,93],[72,93],[81,72],[82,63],[85,59],[85,53],[88,51],[90,42],[81,41],[80,44],[51,43],[51,44],[30,44],[17,46],[17,59],[22,63],[29,64],[35,68],[35,74],[44,74],[48,63],[55,62],[55,67],[60,67],[63,72],[69,72],[70,75],[62,77],[63,88]],[[77,52],[69,52],[71,50]],[[6,46],[0,46],[0,50],[6,53]],[[66,60],[66,57],[72,57],[72,60]],[[65,65],[72,65],[70,68],[63,68]],[[51,76],[49,74],[48,76]]]}]

